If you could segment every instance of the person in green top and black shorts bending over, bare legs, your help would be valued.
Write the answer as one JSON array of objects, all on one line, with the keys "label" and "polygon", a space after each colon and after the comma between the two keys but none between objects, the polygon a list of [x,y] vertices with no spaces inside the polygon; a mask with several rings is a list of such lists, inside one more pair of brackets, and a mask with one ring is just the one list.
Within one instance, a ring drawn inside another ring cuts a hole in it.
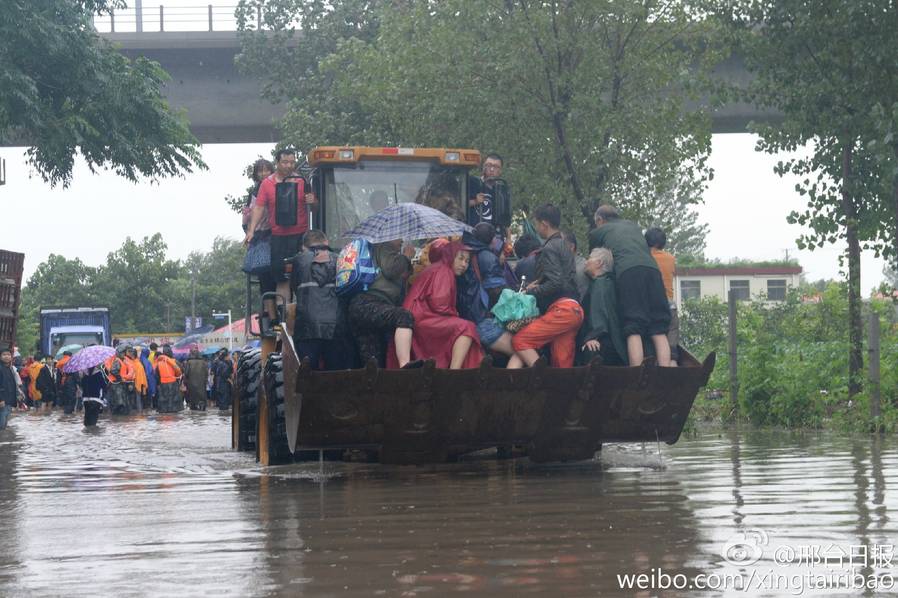
[{"label": "person in green top and black shorts bending over, bare legs", "polygon": [[642,364],[643,340],[651,340],[658,365],[670,366],[670,304],[658,263],[649,252],[642,229],[624,220],[614,206],[604,204],[595,213],[596,228],[589,233],[589,250],[606,247],[614,256],[618,316],[627,339],[631,366]]}]

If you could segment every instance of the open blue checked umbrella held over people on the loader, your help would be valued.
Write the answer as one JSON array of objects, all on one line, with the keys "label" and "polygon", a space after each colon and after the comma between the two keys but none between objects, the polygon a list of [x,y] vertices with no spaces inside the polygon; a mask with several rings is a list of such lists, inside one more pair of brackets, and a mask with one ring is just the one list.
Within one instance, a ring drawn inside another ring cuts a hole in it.
[{"label": "open blue checked umbrella held over people on the loader", "polygon": [[464,222],[443,214],[439,210],[417,203],[400,203],[390,206],[359,223],[346,233],[350,238],[365,239],[369,243],[385,243],[404,239],[433,239],[454,237],[472,230]]}]

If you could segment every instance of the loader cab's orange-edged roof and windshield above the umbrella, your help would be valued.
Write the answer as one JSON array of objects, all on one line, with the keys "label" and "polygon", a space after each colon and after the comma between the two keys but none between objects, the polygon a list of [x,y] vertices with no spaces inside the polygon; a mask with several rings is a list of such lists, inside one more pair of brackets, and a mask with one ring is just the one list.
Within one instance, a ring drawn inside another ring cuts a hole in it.
[{"label": "loader cab's orange-edged roof and windshield above the umbrella", "polygon": [[318,197],[314,228],[332,247],[344,233],[380,210],[415,202],[465,219],[468,172],[480,165],[470,149],[316,147],[308,154],[310,182]]}]

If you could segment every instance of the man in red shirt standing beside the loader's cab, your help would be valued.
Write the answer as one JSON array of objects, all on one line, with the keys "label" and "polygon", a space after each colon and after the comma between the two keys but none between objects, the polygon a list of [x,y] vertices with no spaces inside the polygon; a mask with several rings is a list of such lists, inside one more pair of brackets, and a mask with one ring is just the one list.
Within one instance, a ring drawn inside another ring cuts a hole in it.
[{"label": "man in red shirt standing beside the loader's cab", "polygon": [[[275,160],[274,174],[259,185],[243,243],[249,245],[253,240],[256,226],[267,211],[271,223],[271,275],[278,284],[278,293],[286,297],[284,260],[299,253],[302,236],[309,230],[308,206],[316,204],[317,199],[306,180],[296,172],[295,150],[279,149]],[[274,322],[277,319],[274,301],[265,301],[265,310]]]}]

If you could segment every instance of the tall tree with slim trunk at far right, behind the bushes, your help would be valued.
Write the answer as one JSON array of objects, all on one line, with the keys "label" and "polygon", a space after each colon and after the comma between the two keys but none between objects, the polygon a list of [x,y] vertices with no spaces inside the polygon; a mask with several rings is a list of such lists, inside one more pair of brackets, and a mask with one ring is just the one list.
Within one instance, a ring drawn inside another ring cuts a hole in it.
[{"label": "tall tree with slim trunk at far right, behind the bushes", "polygon": [[[870,140],[874,107],[890,93],[893,100],[896,92],[890,78],[898,60],[898,6],[890,0],[744,0],[724,5],[755,77],[747,97],[784,115],[780,123],[753,126],[760,135],[758,150],[811,147],[810,156],[786,159],[775,169],[781,176],[798,176],[796,190],[807,199],[804,211],[789,216],[790,222],[811,229],[798,239],[799,247],[813,249],[843,239],[847,245],[848,386],[854,395],[863,369],[861,250],[884,251],[889,236],[882,225],[887,187]],[[889,186],[892,180],[888,178]]]}]

